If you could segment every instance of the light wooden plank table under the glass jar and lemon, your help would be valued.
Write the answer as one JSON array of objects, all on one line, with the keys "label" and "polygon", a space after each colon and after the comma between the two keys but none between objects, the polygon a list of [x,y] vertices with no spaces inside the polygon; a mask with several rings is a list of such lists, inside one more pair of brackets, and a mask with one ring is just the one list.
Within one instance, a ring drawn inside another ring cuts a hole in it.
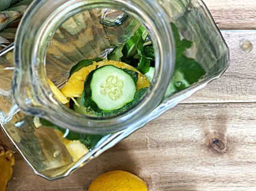
[{"label": "light wooden plank table under the glass jar and lemon", "polygon": [[[205,3],[221,29],[256,29],[256,0]],[[44,180],[16,154],[8,190],[87,190],[114,169],[139,175],[152,191],[256,190],[256,61],[250,54],[234,47],[221,79],[67,178]],[[2,133],[0,139],[7,141]]]}]

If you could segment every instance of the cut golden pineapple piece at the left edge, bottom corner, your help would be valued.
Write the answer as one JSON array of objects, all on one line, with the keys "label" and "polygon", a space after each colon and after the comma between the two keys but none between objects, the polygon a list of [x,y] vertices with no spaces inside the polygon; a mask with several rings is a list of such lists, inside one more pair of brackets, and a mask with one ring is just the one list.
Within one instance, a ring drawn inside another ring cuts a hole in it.
[{"label": "cut golden pineapple piece at the left edge, bottom corner", "polygon": [[14,154],[0,141],[0,191],[5,191],[13,174]]}]

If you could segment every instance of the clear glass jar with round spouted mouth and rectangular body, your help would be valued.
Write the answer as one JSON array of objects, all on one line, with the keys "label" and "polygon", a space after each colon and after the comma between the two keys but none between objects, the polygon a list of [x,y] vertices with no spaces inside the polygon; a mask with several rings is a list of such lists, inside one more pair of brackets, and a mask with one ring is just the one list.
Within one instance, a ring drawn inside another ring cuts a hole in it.
[{"label": "clear glass jar with round spouted mouth and rectangular body", "polygon": [[[136,106],[114,117],[95,118],[58,102],[48,77],[63,86],[73,65],[106,56],[140,23],[154,44],[155,72]],[[191,42],[184,53],[182,43],[177,48],[177,40],[183,39]],[[181,54],[189,65],[179,62]],[[33,171],[48,180],[69,175],[192,96],[220,77],[229,63],[228,47],[200,0],[37,0],[23,17],[14,45],[0,55],[2,129]],[[204,73],[192,80],[199,68]],[[55,127],[66,129],[63,138]],[[74,140],[91,140],[85,143],[91,144],[88,152],[75,160],[63,144],[70,133]]]}]

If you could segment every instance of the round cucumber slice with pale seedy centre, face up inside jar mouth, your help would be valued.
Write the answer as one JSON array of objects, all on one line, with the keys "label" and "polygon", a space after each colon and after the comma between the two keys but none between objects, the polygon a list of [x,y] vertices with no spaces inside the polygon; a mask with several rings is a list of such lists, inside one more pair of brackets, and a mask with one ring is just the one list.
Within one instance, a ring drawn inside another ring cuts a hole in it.
[{"label": "round cucumber slice with pale seedy centre, face up inside jar mouth", "polygon": [[136,93],[134,77],[113,65],[92,71],[84,82],[83,106],[93,111],[113,111],[133,101]]}]

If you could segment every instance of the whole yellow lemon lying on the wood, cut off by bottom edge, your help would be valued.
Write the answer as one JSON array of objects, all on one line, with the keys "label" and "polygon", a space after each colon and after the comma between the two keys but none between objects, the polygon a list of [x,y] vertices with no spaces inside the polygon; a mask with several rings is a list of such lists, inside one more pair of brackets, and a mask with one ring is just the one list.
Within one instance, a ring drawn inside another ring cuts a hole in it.
[{"label": "whole yellow lemon lying on the wood, cut off by bottom edge", "polygon": [[146,183],[130,172],[111,171],[100,175],[89,191],[148,191]]}]

